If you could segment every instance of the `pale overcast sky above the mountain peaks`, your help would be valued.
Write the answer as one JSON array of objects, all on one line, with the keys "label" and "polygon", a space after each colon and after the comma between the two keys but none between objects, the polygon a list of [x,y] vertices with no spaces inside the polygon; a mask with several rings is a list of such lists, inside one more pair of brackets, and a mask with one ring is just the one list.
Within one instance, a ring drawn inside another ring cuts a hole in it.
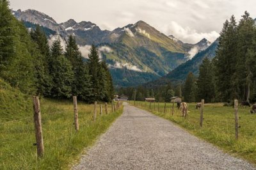
[{"label": "pale overcast sky above the mountain peaks", "polygon": [[240,20],[247,10],[255,18],[255,6],[255,0],[10,0],[13,10],[38,10],[58,23],[91,21],[109,31],[143,20],[188,43],[212,42],[231,15]]}]

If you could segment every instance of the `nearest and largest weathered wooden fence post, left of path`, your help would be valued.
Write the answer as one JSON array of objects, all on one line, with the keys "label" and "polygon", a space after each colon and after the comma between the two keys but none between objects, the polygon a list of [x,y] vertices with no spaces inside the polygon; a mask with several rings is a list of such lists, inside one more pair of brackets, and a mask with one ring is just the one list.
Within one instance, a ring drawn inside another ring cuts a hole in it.
[{"label": "nearest and largest weathered wooden fence post, left of path", "polygon": [[43,140],[42,123],[41,123],[40,102],[39,102],[39,98],[36,96],[33,97],[33,109],[34,109],[37,156],[42,157],[44,155],[44,140]]}]

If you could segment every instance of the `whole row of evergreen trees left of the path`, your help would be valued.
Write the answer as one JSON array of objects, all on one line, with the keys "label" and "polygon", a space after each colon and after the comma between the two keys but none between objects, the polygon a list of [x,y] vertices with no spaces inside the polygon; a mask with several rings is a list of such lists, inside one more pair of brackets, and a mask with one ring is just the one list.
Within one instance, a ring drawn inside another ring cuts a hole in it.
[{"label": "whole row of evergreen trees left of the path", "polygon": [[113,82],[97,48],[92,45],[84,61],[75,38],[65,46],[60,38],[51,47],[42,27],[30,32],[13,17],[9,2],[0,0],[0,77],[29,95],[70,98],[85,102],[113,99]]}]

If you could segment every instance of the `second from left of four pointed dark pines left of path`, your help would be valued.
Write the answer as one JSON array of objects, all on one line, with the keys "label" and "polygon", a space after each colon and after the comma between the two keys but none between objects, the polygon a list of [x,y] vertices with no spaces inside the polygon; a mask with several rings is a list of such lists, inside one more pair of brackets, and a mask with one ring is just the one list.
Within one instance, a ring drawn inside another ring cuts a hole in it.
[{"label": "second from left of four pointed dark pines left of path", "polygon": [[55,98],[70,98],[72,96],[72,83],[74,72],[72,64],[62,54],[60,38],[55,40],[51,47],[52,70],[52,91],[51,95]]}]

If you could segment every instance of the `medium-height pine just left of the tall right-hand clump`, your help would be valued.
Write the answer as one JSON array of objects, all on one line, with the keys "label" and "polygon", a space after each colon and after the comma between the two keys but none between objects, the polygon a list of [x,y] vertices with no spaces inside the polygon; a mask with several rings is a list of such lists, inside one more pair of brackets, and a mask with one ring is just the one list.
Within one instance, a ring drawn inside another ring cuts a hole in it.
[{"label": "medium-height pine just left of the tall right-hand clump", "polygon": [[212,63],[208,58],[205,58],[202,65],[200,65],[197,86],[197,95],[199,99],[204,99],[205,102],[214,102],[214,72]]}]

